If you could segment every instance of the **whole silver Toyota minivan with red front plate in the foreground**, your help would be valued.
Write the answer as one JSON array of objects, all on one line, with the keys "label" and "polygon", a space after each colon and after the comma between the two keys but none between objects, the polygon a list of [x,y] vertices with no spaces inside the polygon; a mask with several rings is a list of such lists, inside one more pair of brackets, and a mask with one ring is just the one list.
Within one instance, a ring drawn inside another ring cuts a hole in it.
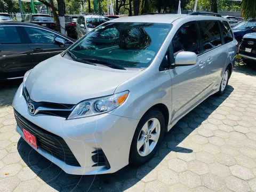
[{"label": "whole silver Toyota minivan with red front plate in the foreground", "polygon": [[143,164],[180,118],[225,92],[236,44],[227,19],[209,15],[103,23],[27,71],[17,132],[69,174]]}]

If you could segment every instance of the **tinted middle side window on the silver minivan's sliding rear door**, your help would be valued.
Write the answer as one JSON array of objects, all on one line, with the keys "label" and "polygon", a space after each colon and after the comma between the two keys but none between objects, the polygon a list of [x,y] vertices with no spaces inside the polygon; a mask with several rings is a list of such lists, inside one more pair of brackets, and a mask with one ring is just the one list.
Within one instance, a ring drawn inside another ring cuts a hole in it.
[{"label": "tinted middle side window on the silver minivan's sliding rear door", "polygon": [[204,51],[208,51],[218,45],[221,45],[218,21],[199,22],[199,28],[203,38]]}]

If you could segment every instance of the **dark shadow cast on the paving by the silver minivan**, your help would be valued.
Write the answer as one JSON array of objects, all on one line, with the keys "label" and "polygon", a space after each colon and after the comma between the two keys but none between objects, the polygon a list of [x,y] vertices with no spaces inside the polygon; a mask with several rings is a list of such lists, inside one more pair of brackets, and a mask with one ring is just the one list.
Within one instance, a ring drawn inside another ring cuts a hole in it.
[{"label": "dark shadow cast on the paving by the silver minivan", "polygon": [[218,97],[212,95],[193,111],[183,117],[168,133],[165,133],[161,148],[156,155],[146,164],[140,167],[126,166],[114,174],[105,175],[70,175],[63,172],[43,156],[32,149],[20,138],[17,149],[23,159],[24,166],[29,166],[38,175],[38,181],[47,183],[58,191],[122,191],[131,188],[144,177],[147,177],[153,169],[161,170],[168,166],[168,156],[174,152],[193,153],[193,146],[186,145],[183,141],[193,131],[207,122],[207,118],[225,101],[233,87],[228,85],[225,94]]}]

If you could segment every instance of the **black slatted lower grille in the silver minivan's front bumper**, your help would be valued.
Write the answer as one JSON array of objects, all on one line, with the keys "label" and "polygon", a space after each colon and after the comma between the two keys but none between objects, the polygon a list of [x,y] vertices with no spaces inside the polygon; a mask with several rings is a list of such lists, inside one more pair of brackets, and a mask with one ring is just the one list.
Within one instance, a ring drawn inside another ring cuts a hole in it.
[{"label": "black slatted lower grille in the silver minivan's front bumper", "polygon": [[26,118],[21,116],[15,109],[14,116],[17,125],[20,127],[21,131],[25,129],[36,137],[38,148],[43,149],[52,156],[65,162],[67,165],[81,166],[79,165],[74,154],[69,149],[67,143],[61,137],[42,129],[34,123],[29,122]]}]

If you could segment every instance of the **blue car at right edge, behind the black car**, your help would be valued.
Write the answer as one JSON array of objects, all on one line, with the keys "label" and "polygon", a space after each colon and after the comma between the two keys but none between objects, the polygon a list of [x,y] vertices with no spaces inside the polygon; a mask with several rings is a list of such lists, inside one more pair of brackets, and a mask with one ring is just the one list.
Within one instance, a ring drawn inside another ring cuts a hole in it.
[{"label": "blue car at right edge, behind the black car", "polygon": [[256,20],[249,19],[247,21],[238,23],[235,27],[232,28],[232,30],[236,41],[241,42],[245,34],[253,33],[256,31]]}]

